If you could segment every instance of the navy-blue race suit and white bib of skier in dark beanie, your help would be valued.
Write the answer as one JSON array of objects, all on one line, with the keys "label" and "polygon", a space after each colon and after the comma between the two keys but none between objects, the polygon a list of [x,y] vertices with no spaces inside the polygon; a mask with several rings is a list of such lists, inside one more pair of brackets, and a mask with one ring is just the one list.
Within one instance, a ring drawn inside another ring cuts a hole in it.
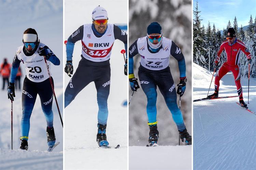
[{"label": "navy-blue race suit and white bib of skier in dark beanie", "polygon": [[169,57],[172,55],[179,64],[180,77],[186,77],[185,58],[181,49],[171,40],[162,37],[162,45],[155,52],[150,49],[147,37],[137,39],[129,47],[129,74],[133,74],[133,57],[140,54],[139,67],[140,85],[147,96],[147,116],[150,124],[156,124],[156,100],[158,87],[165,98],[165,102],[172,114],[172,118],[179,131],[186,127],[182,113],[177,106],[175,84],[170,72]]}]

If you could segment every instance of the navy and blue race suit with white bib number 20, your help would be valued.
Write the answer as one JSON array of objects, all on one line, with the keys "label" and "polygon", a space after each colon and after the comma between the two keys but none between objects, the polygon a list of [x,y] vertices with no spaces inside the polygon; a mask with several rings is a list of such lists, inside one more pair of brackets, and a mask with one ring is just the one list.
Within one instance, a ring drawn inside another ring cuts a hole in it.
[{"label": "navy and blue race suit with white bib number 20", "polygon": [[57,56],[42,43],[39,44],[37,50],[33,54],[27,53],[24,46],[20,46],[17,49],[12,64],[10,82],[15,82],[15,77],[20,62],[22,62],[25,65],[26,77],[24,79],[22,89],[22,120],[20,123],[21,140],[28,140],[28,134],[30,129],[30,116],[35,104],[35,100],[37,99],[37,95],[39,95],[40,97],[41,107],[46,119],[47,126],[49,129],[53,127],[53,90],[50,84],[49,74],[45,65],[44,57],[38,54],[39,47],[45,48],[51,55],[49,57],[49,60],[47,61],[47,66],[49,68],[50,74],[50,63],[53,63],[54,65],[60,64]]}]

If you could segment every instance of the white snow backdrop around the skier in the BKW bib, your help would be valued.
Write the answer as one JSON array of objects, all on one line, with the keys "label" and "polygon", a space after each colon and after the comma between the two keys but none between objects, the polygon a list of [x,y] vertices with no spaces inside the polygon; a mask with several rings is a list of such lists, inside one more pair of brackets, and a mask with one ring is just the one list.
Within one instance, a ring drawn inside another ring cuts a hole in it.
[{"label": "white snow backdrop around the skier in the BKW bib", "polygon": [[[127,23],[127,1],[65,1],[65,39],[81,25],[92,22],[91,12],[98,5],[108,11],[109,23]],[[123,42],[116,40],[110,57],[111,86],[106,128],[110,146],[119,144],[120,148],[98,147],[97,92],[94,83],[90,83],[65,109],[65,169],[127,169],[127,107],[122,103],[127,99],[128,82],[124,75],[122,49]],[[74,70],[81,60],[81,50],[81,41],[78,41],[73,53]],[[65,89],[69,81],[65,74]]]}]

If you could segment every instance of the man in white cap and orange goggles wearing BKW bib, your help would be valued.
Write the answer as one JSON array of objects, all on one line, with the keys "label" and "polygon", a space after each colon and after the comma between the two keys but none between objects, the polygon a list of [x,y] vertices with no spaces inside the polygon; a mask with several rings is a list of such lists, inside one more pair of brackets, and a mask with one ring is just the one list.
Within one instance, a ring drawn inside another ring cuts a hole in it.
[{"label": "man in white cap and orange goggles wearing BKW bib", "polygon": [[[90,82],[95,83],[98,101],[98,145],[108,146],[106,139],[106,124],[108,119],[108,104],[110,89],[110,56],[116,39],[123,41],[127,51],[127,34],[114,24],[108,23],[108,13],[97,6],[92,13],[92,24],[84,24],[68,38],[66,52],[67,63],[65,72],[71,77],[73,74],[72,57],[76,41],[82,41],[82,59],[65,90],[65,107]],[[127,56],[125,64],[127,75]]]}]

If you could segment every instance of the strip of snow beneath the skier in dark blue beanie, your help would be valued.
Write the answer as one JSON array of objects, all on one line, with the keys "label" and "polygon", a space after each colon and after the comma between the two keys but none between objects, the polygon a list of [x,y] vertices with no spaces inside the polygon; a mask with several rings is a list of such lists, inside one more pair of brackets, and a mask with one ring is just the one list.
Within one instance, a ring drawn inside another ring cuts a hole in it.
[{"label": "strip of snow beneath the skier in dark blue beanie", "polygon": [[130,170],[191,169],[191,146],[129,146]]}]

